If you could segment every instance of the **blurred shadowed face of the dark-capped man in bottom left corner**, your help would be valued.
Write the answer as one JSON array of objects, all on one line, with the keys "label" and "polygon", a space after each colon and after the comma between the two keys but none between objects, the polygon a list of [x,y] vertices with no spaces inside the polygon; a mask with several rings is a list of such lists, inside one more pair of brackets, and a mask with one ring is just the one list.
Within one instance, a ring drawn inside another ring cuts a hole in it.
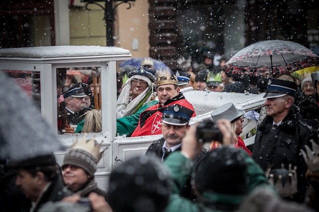
[{"label": "blurred shadowed face of the dark-capped man in bottom left corner", "polygon": [[42,188],[38,186],[38,178],[32,177],[32,175],[25,170],[18,170],[15,180],[15,185],[19,186],[27,199],[35,202]]}]

